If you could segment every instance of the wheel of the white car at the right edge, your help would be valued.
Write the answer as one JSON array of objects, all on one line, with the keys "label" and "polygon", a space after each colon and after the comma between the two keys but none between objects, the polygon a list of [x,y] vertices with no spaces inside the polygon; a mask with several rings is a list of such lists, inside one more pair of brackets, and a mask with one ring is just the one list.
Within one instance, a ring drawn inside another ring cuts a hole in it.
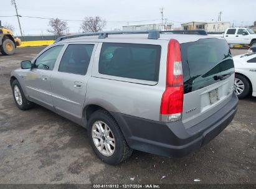
[{"label": "wheel of the white car at the right edge", "polygon": [[239,99],[245,98],[250,93],[249,80],[240,74],[235,74],[234,91]]}]

